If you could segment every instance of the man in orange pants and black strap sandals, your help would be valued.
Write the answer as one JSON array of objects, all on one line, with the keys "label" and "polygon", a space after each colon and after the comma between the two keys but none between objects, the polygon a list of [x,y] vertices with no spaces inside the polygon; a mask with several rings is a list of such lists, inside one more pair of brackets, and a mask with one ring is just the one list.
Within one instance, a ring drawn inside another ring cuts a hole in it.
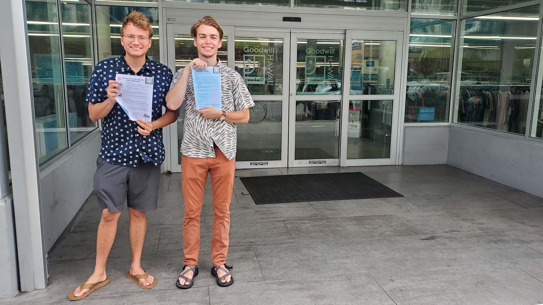
[{"label": "man in orange pants and black strap sandals", "polygon": [[[183,218],[183,271],[176,282],[187,289],[198,275],[200,251],[200,212],[207,174],[211,175],[213,192],[213,234],[211,238],[211,274],[217,285],[233,283],[226,262],[230,231],[230,200],[236,167],[236,124],[249,121],[249,108],[255,103],[239,73],[217,59],[222,47],[223,30],[210,16],[202,18],[191,29],[198,58],[180,69],[166,96],[167,106],[178,109],[185,101],[185,124],[181,144],[181,191],[185,205]],[[207,106],[197,109],[192,81],[192,68],[216,67],[220,71],[221,109]]]}]

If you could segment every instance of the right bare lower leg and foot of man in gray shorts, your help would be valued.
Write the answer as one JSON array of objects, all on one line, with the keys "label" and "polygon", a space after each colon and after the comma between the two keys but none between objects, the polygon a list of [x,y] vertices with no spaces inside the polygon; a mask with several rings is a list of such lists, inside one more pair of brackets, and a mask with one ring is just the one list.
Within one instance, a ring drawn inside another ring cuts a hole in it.
[{"label": "right bare lower leg and foot of man in gray shorts", "polygon": [[[141,251],[143,242],[145,241],[145,233],[147,231],[147,216],[145,212],[128,208],[130,213],[130,250],[132,250],[132,265],[130,266],[130,274],[144,274],[145,271],[141,268]],[[152,284],[154,277],[149,275],[147,278],[140,278],[140,282],[144,286]]]}]

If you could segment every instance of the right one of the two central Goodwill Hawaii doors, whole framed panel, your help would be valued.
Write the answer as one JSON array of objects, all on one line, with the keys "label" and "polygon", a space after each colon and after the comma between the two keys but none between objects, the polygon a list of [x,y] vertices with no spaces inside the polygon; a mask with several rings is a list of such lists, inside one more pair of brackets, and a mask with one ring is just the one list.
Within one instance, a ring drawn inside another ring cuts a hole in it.
[{"label": "right one of the two central Goodwill Hawaii doors, whole framed panel", "polygon": [[344,34],[291,34],[288,166],[339,165]]}]

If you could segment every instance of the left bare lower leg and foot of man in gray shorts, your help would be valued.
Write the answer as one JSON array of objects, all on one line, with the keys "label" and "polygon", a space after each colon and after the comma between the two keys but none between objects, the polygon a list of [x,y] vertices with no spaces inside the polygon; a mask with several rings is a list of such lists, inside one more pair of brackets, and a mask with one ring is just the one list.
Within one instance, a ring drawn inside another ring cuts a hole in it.
[{"label": "left bare lower leg and foot of man in gray shorts", "polygon": [[[117,220],[121,216],[121,212],[110,212],[108,209],[102,210],[102,218],[98,225],[98,233],[96,237],[96,264],[94,265],[94,272],[85,281],[85,283],[99,283],[106,279],[105,264],[108,261],[109,251],[115,241],[115,235],[117,234]],[[89,291],[89,289],[76,288],[74,291],[75,296],[81,296]]]}]

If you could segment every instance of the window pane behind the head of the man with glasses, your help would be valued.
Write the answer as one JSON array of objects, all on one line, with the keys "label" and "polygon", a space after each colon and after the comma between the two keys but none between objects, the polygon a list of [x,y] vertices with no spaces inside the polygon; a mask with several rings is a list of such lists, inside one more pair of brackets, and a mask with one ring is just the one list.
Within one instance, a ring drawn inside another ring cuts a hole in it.
[{"label": "window pane behind the head of the man with glasses", "polygon": [[97,61],[124,54],[120,31],[124,17],[128,16],[131,11],[142,12],[143,15],[149,18],[151,27],[153,27],[153,38],[151,40],[151,47],[147,51],[147,56],[151,60],[160,61],[159,9],[96,5],[96,27],[98,33]]}]

